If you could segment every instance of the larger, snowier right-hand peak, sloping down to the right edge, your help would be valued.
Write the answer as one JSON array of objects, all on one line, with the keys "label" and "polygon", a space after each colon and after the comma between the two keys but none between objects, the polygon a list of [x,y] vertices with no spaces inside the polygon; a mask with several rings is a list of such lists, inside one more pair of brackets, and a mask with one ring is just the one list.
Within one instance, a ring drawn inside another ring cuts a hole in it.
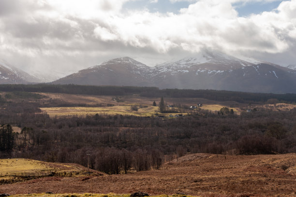
[{"label": "larger, snowier right-hand peak, sloping down to the right edge", "polygon": [[296,70],[249,59],[206,51],[157,65],[151,76],[160,88],[296,92]]}]

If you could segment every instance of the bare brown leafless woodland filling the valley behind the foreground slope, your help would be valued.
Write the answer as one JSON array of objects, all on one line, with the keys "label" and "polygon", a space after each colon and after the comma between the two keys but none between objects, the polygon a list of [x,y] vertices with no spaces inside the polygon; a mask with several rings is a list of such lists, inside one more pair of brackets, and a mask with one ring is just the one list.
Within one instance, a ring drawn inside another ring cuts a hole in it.
[{"label": "bare brown leafless woodland filling the valley behind the foreground slope", "polygon": [[1,144],[10,136],[7,124],[22,128],[14,133],[13,150],[2,148],[0,157],[87,166],[90,154],[91,168],[110,174],[158,169],[187,153],[296,152],[296,109],[257,109],[240,115],[200,111],[164,120],[104,114],[50,118],[33,105],[15,103],[0,109],[0,123],[6,125],[0,129]]}]

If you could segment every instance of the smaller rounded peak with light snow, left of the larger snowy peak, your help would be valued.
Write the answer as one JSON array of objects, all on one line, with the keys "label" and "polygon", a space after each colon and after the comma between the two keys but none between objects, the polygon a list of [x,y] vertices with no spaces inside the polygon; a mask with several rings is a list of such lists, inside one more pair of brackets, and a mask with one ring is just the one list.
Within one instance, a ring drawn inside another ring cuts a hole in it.
[{"label": "smaller rounded peak with light snow, left of the larger snowy peak", "polygon": [[145,64],[130,57],[120,57],[79,70],[53,83],[148,86],[152,85],[149,73],[150,68]]}]

